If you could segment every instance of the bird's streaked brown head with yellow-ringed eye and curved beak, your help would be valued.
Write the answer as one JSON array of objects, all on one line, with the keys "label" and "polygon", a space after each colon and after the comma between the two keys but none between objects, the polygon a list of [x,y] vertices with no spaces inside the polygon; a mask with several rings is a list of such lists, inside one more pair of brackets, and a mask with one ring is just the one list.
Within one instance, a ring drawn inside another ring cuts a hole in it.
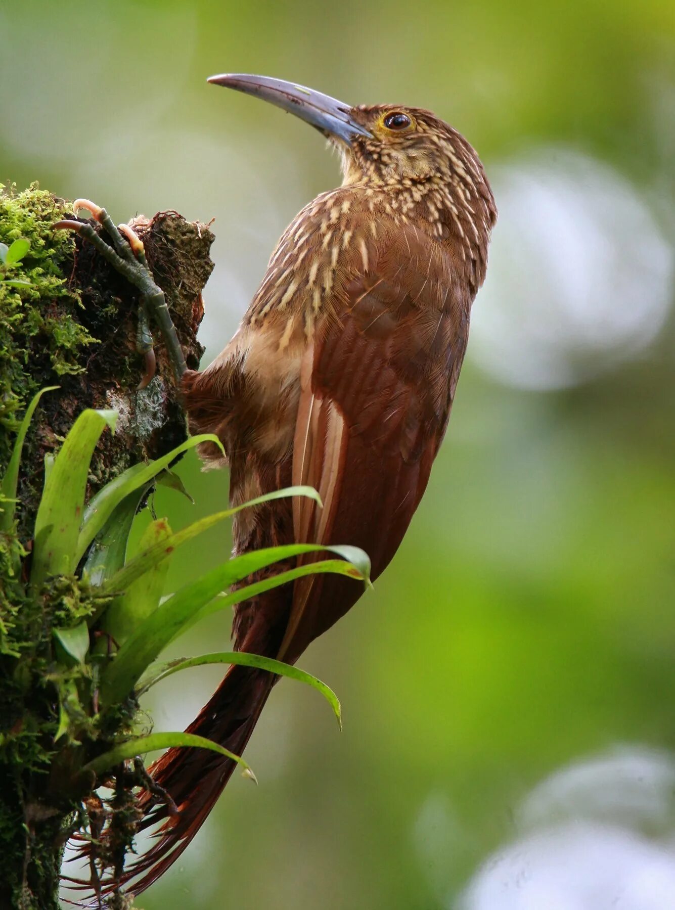
[{"label": "bird's streaked brown head with yellow-ringed eye and curved beak", "polygon": [[[478,154],[430,111],[400,105],[352,107],[268,76],[211,76],[208,81],[262,98],[314,126],[338,148],[345,185],[403,193],[416,205],[433,191],[437,201],[432,213],[446,208],[455,220],[489,234],[497,212]],[[435,227],[440,230],[440,224]]]}]

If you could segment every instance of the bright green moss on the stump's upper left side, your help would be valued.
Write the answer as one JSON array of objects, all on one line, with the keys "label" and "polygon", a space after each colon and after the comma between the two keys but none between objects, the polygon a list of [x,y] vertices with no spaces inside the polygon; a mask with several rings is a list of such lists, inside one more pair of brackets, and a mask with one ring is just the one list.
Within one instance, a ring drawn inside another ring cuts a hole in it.
[{"label": "bright green moss on the stump's upper left side", "polygon": [[[76,318],[80,299],[68,287],[73,236],[52,229],[68,214],[64,203],[36,183],[23,192],[0,185],[0,243],[9,247],[18,238],[30,243],[20,262],[0,267],[0,428],[5,430],[15,430],[17,415],[40,384],[82,372],[81,353],[95,341]],[[2,278],[29,285],[12,287]],[[0,433],[0,466],[9,455],[5,440],[8,434]]]}]

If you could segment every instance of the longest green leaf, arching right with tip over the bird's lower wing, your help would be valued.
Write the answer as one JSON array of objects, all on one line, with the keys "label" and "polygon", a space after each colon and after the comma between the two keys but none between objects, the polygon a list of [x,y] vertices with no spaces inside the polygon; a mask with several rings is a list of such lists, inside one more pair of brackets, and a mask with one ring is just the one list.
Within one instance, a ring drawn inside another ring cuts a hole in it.
[{"label": "longest green leaf, arching right with tip over the bird's lower wing", "polygon": [[[169,642],[180,632],[184,632],[193,622],[212,612],[224,610],[234,603],[246,601],[249,597],[277,588],[286,584],[287,581],[294,581],[304,575],[334,572],[363,580],[364,575],[352,563],[344,560],[326,560],[309,562],[307,565],[297,566],[296,569],[280,572],[271,578],[248,584],[225,597],[217,596],[235,581],[246,578],[251,571],[257,571],[282,559],[282,552],[284,555],[292,555],[293,551],[297,554],[321,550],[341,551],[342,549],[294,544],[287,547],[273,547],[267,551],[252,551],[237,559],[227,561],[217,569],[207,572],[197,581],[187,584],[180,591],[176,591],[158,610],[148,616],[146,622],[136,629],[119,649],[115,660],[106,668],[100,686],[102,707],[124,698],[136,686],[136,682],[146,668],[156,660]],[[361,561],[368,562],[366,554],[362,551],[359,552],[362,555]],[[215,598],[217,601],[214,602]]]}]

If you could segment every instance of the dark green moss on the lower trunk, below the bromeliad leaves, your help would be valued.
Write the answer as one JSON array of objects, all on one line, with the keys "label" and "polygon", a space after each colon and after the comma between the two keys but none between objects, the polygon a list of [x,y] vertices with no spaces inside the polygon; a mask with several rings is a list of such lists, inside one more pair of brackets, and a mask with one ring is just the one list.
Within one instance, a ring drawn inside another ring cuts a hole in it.
[{"label": "dark green moss on the lower trunk, below the bromeliad leaves", "polygon": [[[9,547],[12,534],[5,539]],[[77,662],[55,642],[55,627],[71,627],[100,609],[101,597],[85,581],[56,576],[35,597],[18,580],[3,600],[0,905],[56,910],[62,845],[85,824],[83,800],[94,784],[78,769],[130,733],[138,704],[130,695],[114,711],[97,713],[96,655]],[[136,833],[135,783],[120,787],[110,810],[114,836],[106,849],[115,846],[119,856],[112,859],[120,868]]]}]

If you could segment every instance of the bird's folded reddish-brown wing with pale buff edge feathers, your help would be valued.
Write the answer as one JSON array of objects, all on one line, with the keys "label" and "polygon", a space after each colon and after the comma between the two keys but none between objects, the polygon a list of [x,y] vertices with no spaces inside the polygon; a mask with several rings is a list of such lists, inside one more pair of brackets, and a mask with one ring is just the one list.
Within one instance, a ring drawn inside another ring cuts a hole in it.
[{"label": "bird's folded reddish-brown wing with pale buff edge feathers", "polygon": [[[398,549],[448,422],[468,334],[468,302],[450,278],[411,228],[328,302],[302,361],[292,476],[323,509],[297,498],[295,537],[360,546],[373,578]],[[347,579],[297,581],[280,656],[295,659],[359,592]]]}]

